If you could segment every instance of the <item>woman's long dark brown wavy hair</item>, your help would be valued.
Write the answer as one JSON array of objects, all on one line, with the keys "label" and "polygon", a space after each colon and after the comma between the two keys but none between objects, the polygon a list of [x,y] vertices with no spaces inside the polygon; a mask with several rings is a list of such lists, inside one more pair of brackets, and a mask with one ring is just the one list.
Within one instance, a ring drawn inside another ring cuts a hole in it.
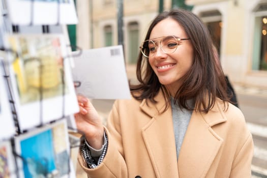
[{"label": "woman's long dark brown wavy hair", "polygon": [[[172,9],[159,14],[151,23],[144,40],[148,40],[151,31],[161,20],[171,18],[183,26],[193,46],[193,64],[189,71],[181,78],[182,85],[177,88],[174,102],[179,107],[189,110],[208,112],[215,105],[216,97],[228,106],[229,98],[226,93],[226,81],[221,65],[216,63],[215,50],[210,33],[202,21],[192,12],[183,9]],[[148,50],[145,50],[148,55]],[[136,75],[138,84],[130,84],[133,97],[137,100],[148,99],[156,103],[155,96],[162,90],[166,107],[170,105],[170,94],[162,85],[147,57],[139,52]],[[195,102],[195,108],[187,104],[187,100]],[[227,107],[224,107],[225,109]]]}]

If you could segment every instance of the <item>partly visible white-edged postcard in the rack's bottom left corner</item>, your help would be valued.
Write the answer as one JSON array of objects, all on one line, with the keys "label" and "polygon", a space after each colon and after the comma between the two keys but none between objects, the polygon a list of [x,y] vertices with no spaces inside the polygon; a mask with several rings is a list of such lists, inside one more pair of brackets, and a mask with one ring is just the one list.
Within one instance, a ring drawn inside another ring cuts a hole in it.
[{"label": "partly visible white-edged postcard in the rack's bottom left corner", "polygon": [[0,141],[0,177],[17,177],[10,141]]}]

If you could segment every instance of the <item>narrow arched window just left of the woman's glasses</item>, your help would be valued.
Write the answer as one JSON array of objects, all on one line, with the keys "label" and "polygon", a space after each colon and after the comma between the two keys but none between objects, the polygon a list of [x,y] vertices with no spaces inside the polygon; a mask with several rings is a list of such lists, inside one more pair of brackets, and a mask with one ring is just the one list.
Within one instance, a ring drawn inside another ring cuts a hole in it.
[{"label": "narrow arched window just left of the woman's glasses", "polygon": [[130,22],[128,24],[128,33],[129,33],[129,41],[128,41],[128,61],[129,64],[136,64],[138,50],[139,50],[139,26],[137,22]]}]

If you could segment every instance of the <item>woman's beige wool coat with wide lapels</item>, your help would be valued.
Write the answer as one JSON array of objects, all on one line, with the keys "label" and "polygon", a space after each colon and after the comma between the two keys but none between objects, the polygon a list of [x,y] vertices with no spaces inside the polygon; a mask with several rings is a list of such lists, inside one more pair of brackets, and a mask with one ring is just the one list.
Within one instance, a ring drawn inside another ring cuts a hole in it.
[{"label": "woman's beige wool coat with wide lapels", "polygon": [[108,150],[95,169],[86,168],[88,177],[171,178],[171,177],[251,177],[252,135],[242,112],[217,101],[209,113],[193,111],[176,159],[171,108],[164,109],[163,95],[153,105],[146,100],[116,101],[106,132]]}]

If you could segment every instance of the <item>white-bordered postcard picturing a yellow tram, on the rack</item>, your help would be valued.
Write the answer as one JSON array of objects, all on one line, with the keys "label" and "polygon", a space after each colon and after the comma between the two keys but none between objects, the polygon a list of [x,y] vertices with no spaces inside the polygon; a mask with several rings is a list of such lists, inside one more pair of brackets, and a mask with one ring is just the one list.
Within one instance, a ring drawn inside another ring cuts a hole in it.
[{"label": "white-bordered postcard picturing a yellow tram, on the rack", "polygon": [[62,35],[7,35],[5,42],[20,130],[79,111]]}]

